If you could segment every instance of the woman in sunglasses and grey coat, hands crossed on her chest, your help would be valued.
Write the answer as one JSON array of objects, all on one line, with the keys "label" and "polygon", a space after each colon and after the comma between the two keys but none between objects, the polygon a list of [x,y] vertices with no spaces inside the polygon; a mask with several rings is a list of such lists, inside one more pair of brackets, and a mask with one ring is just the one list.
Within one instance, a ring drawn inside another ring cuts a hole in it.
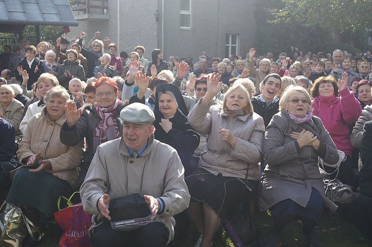
[{"label": "woman in sunglasses and grey coat, hands crossed on her chest", "polygon": [[[353,96],[354,97],[354,96]],[[336,146],[321,120],[313,116],[309,92],[291,85],[279,101],[279,112],[266,128],[263,172],[259,197],[261,211],[271,210],[273,227],[266,247],[277,247],[282,229],[301,220],[310,247],[321,247],[314,232],[323,206],[334,212],[337,206],[324,196],[318,157],[328,164],[339,160]]]}]

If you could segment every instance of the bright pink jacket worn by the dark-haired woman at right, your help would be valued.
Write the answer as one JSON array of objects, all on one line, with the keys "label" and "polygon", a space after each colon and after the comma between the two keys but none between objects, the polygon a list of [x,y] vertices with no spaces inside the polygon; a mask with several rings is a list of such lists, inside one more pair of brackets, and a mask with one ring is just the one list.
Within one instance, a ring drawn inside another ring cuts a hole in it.
[{"label": "bright pink jacket worn by the dark-haired woman at right", "polygon": [[314,115],[323,122],[337,149],[351,157],[353,146],[349,139],[348,125],[358,120],[362,114],[362,107],[348,88],[339,92],[339,98],[335,95],[316,96],[312,100],[312,108]]}]

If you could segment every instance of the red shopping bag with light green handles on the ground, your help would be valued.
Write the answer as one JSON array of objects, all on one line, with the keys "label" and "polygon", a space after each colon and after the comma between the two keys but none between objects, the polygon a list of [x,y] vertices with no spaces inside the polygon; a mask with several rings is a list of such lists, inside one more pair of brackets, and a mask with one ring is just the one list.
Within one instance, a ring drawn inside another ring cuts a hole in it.
[{"label": "red shopping bag with light green handles on the ground", "polygon": [[[60,196],[57,201],[58,212],[54,213],[58,225],[63,231],[59,247],[91,247],[89,228],[92,226],[92,215],[84,211],[82,203],[72,204],[71,199]],[[67,207],[61,209],[61,199],[67,201]]]}]

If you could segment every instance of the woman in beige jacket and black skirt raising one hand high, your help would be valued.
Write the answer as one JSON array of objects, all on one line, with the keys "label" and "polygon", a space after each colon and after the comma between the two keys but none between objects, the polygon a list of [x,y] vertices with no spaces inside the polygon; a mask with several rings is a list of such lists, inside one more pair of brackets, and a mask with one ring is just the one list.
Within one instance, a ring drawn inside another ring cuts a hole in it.
[{"label": "woman in beige jacket and black skirt raising one hand high", "polygon": [[243,85],[232,86],[223,105],[211,106],[223,83],[220,77],[214,73],[208,76],[205,96],[187,116],[196,131],[208,135],[198,168],[185,179],[191,196],[187,214],[200,234],[196,247],[211,246],[221,222],[242,197],[248,196],[243,195],[246,174],[249,189],[245,191],[250,193],[258,187],[263,119],[253,112]]}]

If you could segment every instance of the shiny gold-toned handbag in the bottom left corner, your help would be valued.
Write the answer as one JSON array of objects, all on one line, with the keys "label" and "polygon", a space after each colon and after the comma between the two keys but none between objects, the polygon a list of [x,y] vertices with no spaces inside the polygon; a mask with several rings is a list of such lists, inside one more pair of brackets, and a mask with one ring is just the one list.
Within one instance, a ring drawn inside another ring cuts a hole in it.
[{"label": "shiny gold-toned handbag in the bottom left corner", "polygon": [[[31,230],[33,228],[39,233],[39,238],[35,239]],[[27,233],[35,241],[41,240],[41,233],[35,225],[22,213],[22,210],[10,203],[3,202],[0,208],[0,246],[1,247],[20,247]]]}]

